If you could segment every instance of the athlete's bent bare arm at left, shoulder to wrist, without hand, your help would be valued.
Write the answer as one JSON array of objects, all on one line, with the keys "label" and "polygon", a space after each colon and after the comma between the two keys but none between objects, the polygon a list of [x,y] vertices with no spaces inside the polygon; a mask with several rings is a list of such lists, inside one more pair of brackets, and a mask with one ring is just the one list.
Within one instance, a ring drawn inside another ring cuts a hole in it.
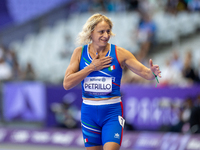
[{"label": "athlete's bent bare arm at left, shoulder to wrist, without hand", "polygon": [[92,71],[95,70],[93,65],[89,65],[79,71],[79,64],[81,60],[82,47],[78,47],[74,50],[70,64],[65,72],[63,80],[63,87],[69,90],[78,85],[85,77],[87,77]]}]

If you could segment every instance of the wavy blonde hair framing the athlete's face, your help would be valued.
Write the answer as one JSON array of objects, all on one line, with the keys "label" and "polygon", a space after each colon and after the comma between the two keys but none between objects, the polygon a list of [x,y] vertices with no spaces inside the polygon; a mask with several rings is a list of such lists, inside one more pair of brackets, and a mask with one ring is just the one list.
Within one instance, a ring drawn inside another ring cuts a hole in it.
[{"label": "wavy blonde hair framing the athlete's face", "polygon": [[76,44],[77,45],[85,45],[85,44],[91,43],[91,41],[92,41],[91,33],[92,33],[92,31],[94,31],[94,28],[96,27],[96,25],[101,21],[105,21],[110,25],[111,36],[114,36],[115,34],[112,32],[112,27],[113,27],[112,21],[108,17],[97,13],[97,14],[92,15],[86,21],[86,23],[83,26],[82,31],[78,34]]}]

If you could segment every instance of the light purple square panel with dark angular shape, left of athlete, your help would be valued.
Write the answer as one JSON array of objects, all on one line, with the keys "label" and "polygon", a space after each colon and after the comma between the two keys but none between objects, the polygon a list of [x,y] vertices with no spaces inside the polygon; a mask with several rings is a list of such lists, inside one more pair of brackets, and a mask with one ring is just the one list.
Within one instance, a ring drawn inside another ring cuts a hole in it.
[{"label": "light purple square panel with dark angular shape, left of athlete", "polygon": [[45,85],[39,82],[10,82],[3,86],[5,121],[42,122],[46,118]]}]

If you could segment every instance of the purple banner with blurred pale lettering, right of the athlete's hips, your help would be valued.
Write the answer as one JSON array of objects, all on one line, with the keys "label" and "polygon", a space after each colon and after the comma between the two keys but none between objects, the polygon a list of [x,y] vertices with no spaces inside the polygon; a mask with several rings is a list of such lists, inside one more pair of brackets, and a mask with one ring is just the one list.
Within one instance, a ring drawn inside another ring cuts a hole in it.
[{"label": "purple banner with blurred pale lettering, right of the athlete's hips", "polygon": [[121,88],[126,122],[137,130],[157,130],[179,121],[181,104],[200,94],[200,86],[154,88],[124,85]]}]

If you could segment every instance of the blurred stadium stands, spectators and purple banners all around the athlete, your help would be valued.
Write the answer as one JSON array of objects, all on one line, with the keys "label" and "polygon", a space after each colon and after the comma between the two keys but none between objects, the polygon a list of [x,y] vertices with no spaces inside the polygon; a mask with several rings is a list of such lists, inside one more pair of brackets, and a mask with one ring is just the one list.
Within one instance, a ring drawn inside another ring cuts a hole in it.
[{"label": "blurred stadium stands, spectators and purple banners all around the athlete", "polygon": [[110,43],[162,78],[126,68],[121,149],[200,149],[200,0],[1,0],[0,150],[84,149],[80,86],[62,80],[88,17],[114,23]]}]

